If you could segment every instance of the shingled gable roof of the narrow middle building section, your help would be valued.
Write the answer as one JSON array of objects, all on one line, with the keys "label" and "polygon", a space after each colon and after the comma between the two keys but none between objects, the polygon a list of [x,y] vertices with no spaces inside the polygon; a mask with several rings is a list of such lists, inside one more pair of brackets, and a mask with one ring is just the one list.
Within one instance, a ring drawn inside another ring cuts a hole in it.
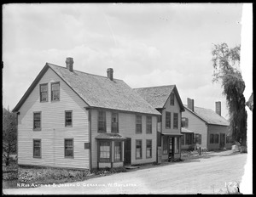
[{"label": "shingled gable roof of the narrow middle building section", "polygon": [[181,110],[184,111],[182,100],[179,97],[179,93],[177,92],[177,87],[175,85],[141,87],[134,88],[134,90],[139,93],[146,101],[148,101],[148,103],[151,104],[155,109],[163,108],[170,94],[174,92]]}]

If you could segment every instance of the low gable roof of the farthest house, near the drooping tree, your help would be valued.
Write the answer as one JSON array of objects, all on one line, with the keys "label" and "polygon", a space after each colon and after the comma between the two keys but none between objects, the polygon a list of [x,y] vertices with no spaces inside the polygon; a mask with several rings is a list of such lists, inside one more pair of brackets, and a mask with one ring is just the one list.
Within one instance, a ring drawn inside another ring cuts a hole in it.
[{"label": "low gable roof of the farthest house, near the drooping tree", "polygon": [[224,119],[223,116],[218,115],[215,111],[211,109],[205,109],[201,107],[195,107],[194,111],[190,110],[187,105],[184,105],[185,109],[188,110],[190,113],[194,114],[202,121],[205,121],[207,124],[212,125],[221,125],[221,126],[229,126],[230,122]]}]

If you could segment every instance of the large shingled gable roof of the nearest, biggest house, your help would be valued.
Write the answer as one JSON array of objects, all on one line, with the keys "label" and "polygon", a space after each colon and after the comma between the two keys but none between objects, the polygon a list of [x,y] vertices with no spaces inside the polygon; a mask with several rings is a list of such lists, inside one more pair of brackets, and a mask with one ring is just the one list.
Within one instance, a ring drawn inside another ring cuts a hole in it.
[{"label": "large shingled gable roof of the nearest, biggest house", "polygon": [[38,84],[48,69],[53,70],[60,76],[92,108],[160,115],[157,110],[122,80],[113,79],[111,81],[107,76],[96,76],[78,70],[71,72],[66,67],[49,63],[46,63],[35,81],[32,82],[31,87],[28,88],[23,98],[20,99],[14,111],[20,109],[20,106],[25,102],[32,89]]}]

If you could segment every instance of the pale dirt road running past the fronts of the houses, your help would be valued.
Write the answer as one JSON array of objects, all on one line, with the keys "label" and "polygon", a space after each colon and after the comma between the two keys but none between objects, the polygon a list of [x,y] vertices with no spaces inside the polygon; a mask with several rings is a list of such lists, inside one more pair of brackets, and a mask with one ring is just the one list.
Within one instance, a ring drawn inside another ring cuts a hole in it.
[{"label": "pale dirt road running past the fronts of the houses", "polygon": [[96,177],[79,183],[4,189],[3,194],[218,194],[241,182],[247,154],[231,150],[207,158]]}]

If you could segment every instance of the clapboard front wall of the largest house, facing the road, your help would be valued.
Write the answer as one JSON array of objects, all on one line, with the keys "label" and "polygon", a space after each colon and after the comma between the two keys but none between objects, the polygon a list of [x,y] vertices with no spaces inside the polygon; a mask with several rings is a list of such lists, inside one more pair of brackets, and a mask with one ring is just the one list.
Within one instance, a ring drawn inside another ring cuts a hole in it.
[{"label": "clapboard front wall of the largest house, facing the road", "polygon": [[[156,129],[157,129],[157,117],[152,116],[152,133],[146,133],[146,115],[142,115],[143,132],[142,134],[136,134],[136,114],[118,112],[119,114],[119,135],[131,138],[131,165],[150,163],[156,161]],[[107,132],[111,132],[111,110],[106,110]],[[92,168],[97,167],[97,141],[96,136],[100,134],[97,132],[97,110],[91,110],[91,161]],[[136,140],[143,140],[143,158],[140,160],[136,157]],[[146,140],[152,140],[152,158],[146,158]],[[116,165],[116,164],[113,164]]]}]

